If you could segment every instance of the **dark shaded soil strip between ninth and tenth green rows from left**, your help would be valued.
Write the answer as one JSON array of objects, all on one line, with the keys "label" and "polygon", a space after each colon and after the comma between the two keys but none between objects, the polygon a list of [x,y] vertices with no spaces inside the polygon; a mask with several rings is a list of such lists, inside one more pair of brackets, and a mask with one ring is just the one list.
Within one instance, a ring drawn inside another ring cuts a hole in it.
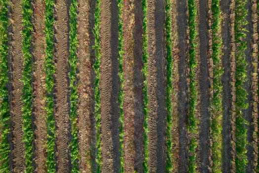
[{"label": "dark shaded soil strip between ninth and tenth green rows from left", "polygon": [[200,172],[210,173],[212,162],[210,161],[210,114],[209,114],[209,102],[210,102],[210,74],[209,74],[209,9],[208,0],[199,0],[199,93],[200,93],[200,124],[199,124],[199,156],[200,156]]}]

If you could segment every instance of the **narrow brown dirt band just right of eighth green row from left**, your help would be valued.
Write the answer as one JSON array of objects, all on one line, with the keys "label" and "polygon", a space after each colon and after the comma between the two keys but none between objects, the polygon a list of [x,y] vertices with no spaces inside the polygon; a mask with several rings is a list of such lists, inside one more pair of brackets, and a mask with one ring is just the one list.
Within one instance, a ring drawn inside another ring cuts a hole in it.
[{"label": "narrow brown dirt band just right of eighth green row from left", "polygon": [[172,70],[172,86],[173,86],[173,94],[172,94],[172,141],[173,141],[173,173],[178,173],[178,163],[179,163],[179,131],[178,131],[178,91],[179,91],[179,75],[178,75],[178,64],[179,64],[179,48],[178,48],[178,32],[177,32],[177,5],[176,0],[171,0],[171,37],[172,37],[172,53],[173,53],[173,70]]}]

